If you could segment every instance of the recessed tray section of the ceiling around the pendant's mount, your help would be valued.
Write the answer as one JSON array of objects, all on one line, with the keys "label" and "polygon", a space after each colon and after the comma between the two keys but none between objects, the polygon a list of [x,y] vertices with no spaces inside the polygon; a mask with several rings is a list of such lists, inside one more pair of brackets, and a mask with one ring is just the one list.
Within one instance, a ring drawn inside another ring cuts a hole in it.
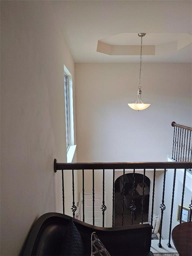
[{"label": "recessed tray section of the ceiling around the pendant's mount", "polygon": [[[147,33],[143,37],[142,55],[155,55],[156,58],[177,54],[192,43],[188,33]],[[137,33],[120,33],[98,40],[97,52],[108,55],[140,55],[141,38]]]}]

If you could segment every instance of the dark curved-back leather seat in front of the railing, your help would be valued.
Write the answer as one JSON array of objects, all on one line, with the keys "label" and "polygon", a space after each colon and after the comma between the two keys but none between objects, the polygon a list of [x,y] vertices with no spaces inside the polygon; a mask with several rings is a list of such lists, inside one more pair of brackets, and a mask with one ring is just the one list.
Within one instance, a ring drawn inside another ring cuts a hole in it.
[{"label": "dark curved-back leather seat in front of the railing", "polygon": [[[33,225],[23,255],[63,255],[65,232],[70,216],[46,213]],[[106,249],[115,255],[153,255],[150,253],[151,226],[149,224],[115,228],[101,228],[72,218],[85,245],[85,255],[91,255],[91,233],[96,232]]]}]

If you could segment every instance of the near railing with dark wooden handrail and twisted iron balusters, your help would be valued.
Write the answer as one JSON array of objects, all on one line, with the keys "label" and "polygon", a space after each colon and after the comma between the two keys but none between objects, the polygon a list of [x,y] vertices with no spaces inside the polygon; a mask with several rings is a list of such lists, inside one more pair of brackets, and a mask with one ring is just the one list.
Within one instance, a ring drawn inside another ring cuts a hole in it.
[{"label": "near railing with dark wooden handrail and twisted iron balusters", "polygon": [[[184,130],[184,128],[181,128]],[[189,131],[189,130],[188,130]],[[175,134],[178,134],[178,131],[175,131]],[[190,134],[191,136],[191,134]],[[178,136],[174,135],[174,139]],[[187,142],[186,142],[187,143]],[[175,148],[174,148],[175,151]],[[177,152],[177,150],[176,150]],[[176,153],[177,155],[177,153]],[[154,198],[155,198],[155,183],[156,183],[156,174],[158,170],[163,171],[163,192],[162,192],[162,202],[160,205],[161,209],[161,224],[160,224],[160,238],[159,238],[159,244],[158,246],[161,248],[161,234],[162,234],[162,224],[163,224],[163,214],[164,210],[166,209],[166,205],[164,202],[165,199],[165,181],[166,181],[166,172],[168,169],[174,169],[174,177],[173,177],[173,188],[172,188],[172,201],[171,201],[171,212],[170,212],[170,227],[169,227],[169,242],[168,247],[171,247],[170,241],[171,241],[171,228],[172,228],[172,216],[173,216],[173,203],[174,203],[174,192],[175,192],[175,179],[176,179],[176,173],[178,169],[184,169],[184,178],[183,178],[183,190],[182,190],[182,199],[181,199],[181,211],[180,211],[180,223],[182,220],[182,210],[183,210],[183,201],[184,201],[184,192],[185,192],[185,180],[186,180],[186,169],[192,168],[192,162],[187,161],[177,161],[177,162],[141,162],[141,163],[57,163],[57,160],[54,160],[54,171],[57,172],[57,170],[62,171],[62,193],[63,193],[63,213],[65,213],[65,198],[64,198],[64,178],[63,178],[63,172],[65,170],[72,170],[72,195],[73,195],[73,202],[72,202],[72,213],[73,217],[75,216],[75,211],[77,210],[77,207],[75,206],[75,199],[74,199],[74,170],[82,170],[82,206],[83,206],[83,216],[82,219],[85,221],[85,184],[84,184],[84,170],[92,170],[92,201],[93,201],[93,225],[95,224],[95,187],[94,187],[94,172],[95,170],[103,170],[103,180],[102,182],[102,195],[103,195],[103,201],[101,205],[102,210],[102,216],[103,221],[102,225],[104,227],[104,217],[105,217],[105,211],[106,211],[106,205],[105,205],[105,170],[111,170],[113,173],[113,184],[112,184],[112,227],[114,227],[114,201],[115,201],[115,170],[123,170],[123,189],[122,189],[122,226],[124,225],[124,200],[125,200],[125,171],[126,170],[133,170],[133,184],[132,184],[132,201],[130,205],[131,210],[131,225],[134,224],[133,216],[134,211],[136,209],[135,206],[135,171],[143,171],[143,187],[142,187],[142,214],[141,214],[141,223],[143,223],[144,220],[144,205],[145,205],[145,173],[146,170],[153,171],[153,190],[152,190],[152,209],[151,209],[151,227],[152,227],[152,218],[153,218],[153,211],[154,211]],[[109,196],[109,195],[108,195]],[[190,209],[190,217],[189,221],[191,221],[191,215],[192,215],[192,199],[191,202],[189,202],[189,209]]]}]

